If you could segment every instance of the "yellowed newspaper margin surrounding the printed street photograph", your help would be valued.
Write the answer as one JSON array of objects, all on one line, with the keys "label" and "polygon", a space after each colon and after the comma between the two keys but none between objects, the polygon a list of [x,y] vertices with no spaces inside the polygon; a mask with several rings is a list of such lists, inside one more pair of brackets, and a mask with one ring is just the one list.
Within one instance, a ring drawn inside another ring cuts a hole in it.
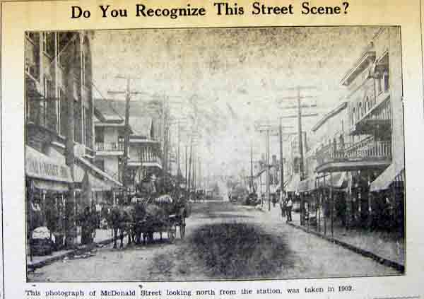
[{"label": "yellowed newspaper margin surrounding the printed street photograph", "polygon": [[[3,199],[3,250],[5,298],[26,298],[25,283],[25,227],[24,227],[24,122],[23,122],[23,42],[25,30],[96,30],[124,28],[195,28],[234,26],[306,26],[306,25],[400,25],[403,59],[405,156],[406,156],[406,275],[353,279],[308,279],[283,281],[226,281],[143,283],[149,289],[165,288],[233,288],[243,287],[303,289],[309,286],[352,285],[352,293],[312,294],[316,298],[386,298],[423,296],[424,255],[422,222],[422,165],[423,155],[423,33],[420,25],[419,1],[355,1],[348,14],[338,16],[249,16],[250,1],[237,2],[247,7],[243,16],[216,16],[212,1],[202,1],[208,11],[196,18],[136,18],[134,7],[138,1],[31,1],[5,2],[1,6],[1,148]],[[110,4],[128,8],[128,18],[101,18],[98,5]],[[143,1],[146,6],[185,6],[185,1]],[[285,5],[267,1],[268,5]],[[293,2],[300,6],[299,2]],[[320,1],[324,6],[324,1]],[[73,20],[71,6],[79,5],[92,11],[90,18]],[[194,5],[194,3],[193,3]],[[325,1],[325,5],[340,5],[339,1]],[[423,15],[424,16],[424,15]],[[420,284],[421,283],[421,284]],[[37,288],[101,289],[110,283],[38,283]],[[113,288],[134,288],[134,283],[117,283]],[[1,293],[3,295],[3,293]],[[300,294],[304,296],[305,294]],[[298,295],[297,295],[298,296]],[[242,295],[235,295],[241,298]],[[257,295],[250,295],[257,298]],[[259,297],[259,296],[258,296]],[[98,297],[100,298],[100,296]],[[276,297],[275,297],[276,298]]]}]

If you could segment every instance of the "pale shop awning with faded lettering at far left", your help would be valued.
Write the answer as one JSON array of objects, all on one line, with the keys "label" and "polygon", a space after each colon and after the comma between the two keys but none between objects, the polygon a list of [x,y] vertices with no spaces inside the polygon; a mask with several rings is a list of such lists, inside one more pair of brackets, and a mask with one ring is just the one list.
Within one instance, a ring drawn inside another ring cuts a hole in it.
[{"label": "pale shop awning with faded lettering at far left", "polygon": [[25,175],[53,182],[72,182],[68,166],[30,146],[25,146]]}]

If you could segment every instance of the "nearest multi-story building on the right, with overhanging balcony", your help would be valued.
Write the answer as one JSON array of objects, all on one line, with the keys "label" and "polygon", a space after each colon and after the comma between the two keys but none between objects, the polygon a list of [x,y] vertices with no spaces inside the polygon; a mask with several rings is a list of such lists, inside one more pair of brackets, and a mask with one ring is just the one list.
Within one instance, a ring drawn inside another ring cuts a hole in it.
[{"label": "nearest multi-story building on the right, with overhanging balcony", "polygon": [[[317,172],[348,172],[347,223],[364,224],[384,205],[404,213],[404,124],[397,27],[378,30],[343,77],[347,134],[317,151]],[[370,194],[370,192],[374,192]],[[403,221],[401,221],[403,223]],[[398,223],[399,224],[399,223]]]}]

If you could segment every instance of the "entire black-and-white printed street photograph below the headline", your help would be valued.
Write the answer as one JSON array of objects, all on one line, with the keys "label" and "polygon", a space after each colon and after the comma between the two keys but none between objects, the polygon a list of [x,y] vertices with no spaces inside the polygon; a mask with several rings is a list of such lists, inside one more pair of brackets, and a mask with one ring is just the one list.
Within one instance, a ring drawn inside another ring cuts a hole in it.
[{"label": "entire black-and-white printed street photograph below the headline", "polygon": [[400,36],[25,33],[27,281],[403,275]]}]

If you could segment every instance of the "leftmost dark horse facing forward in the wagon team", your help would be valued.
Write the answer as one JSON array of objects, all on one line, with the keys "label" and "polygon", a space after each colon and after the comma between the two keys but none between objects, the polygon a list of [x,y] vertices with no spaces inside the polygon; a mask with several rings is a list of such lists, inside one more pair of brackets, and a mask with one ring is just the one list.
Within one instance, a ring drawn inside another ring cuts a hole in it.
[{"label": "leftmost dark horse facing forward in the wagon team", "polygon": [[113,247],[117,248],[117,238],[119,230],[119,239],[121,240],[121,248],[124,247],[124,232],[128,235],[128,245],[131,239],[134,240],[133,225],[134,223],[134,207],[133,206],[113,206],[110,210],[110,224],[113,230]]}]

